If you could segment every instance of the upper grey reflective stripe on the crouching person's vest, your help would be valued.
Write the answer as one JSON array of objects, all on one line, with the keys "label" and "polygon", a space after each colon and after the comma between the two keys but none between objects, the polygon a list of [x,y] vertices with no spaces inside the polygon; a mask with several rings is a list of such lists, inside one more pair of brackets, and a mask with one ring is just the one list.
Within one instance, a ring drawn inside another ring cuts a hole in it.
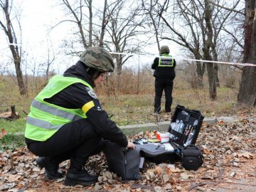
[{"label": "upper grey reflective stripe on the crouching person's vest", "polygon": [[[55,108],[55,107],[51,107],[51,106],[46,105],[42,102],[38,102],[37,100],[33,100],[31,105],[33,107],[37,108],[38,110],[41,110],[43,112],[48,112],[50,114],[53,114],[54,116],[69,119],[70,121],[75,121],[75,120],[78,120],[78,119],[82,119],[82,117],[80,117],[78,115],[75,115],[75,114],[70,113],[70,112],[65,112],[65,111],[60,110],[60,109]],[[46,127],[43,127],[43,126],[38,126],[38,127],[46,128]]]}]

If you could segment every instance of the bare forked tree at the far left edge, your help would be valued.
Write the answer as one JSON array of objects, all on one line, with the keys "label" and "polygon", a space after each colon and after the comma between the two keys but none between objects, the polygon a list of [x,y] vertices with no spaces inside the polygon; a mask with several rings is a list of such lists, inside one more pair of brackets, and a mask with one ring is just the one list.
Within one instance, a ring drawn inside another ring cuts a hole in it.
[{"label": "bare forked tree at the far left edge", "polygon": [[[21,71],[22,50],[21,50],[21,46],[18,47],[18,43],[21,43],[21,34],[20,34],[20,38],[17,37],[18,32],[21,33],[20,18],[17,13],[15,13],[14,18],[11,18],[12,17],[11,13],[13,9],[15,11],[15,7],[13,6],[13,1],[1,0],[0,7],[4,15],[4,18],[0,18],[0,29],[4,31],[9,41],[9,48],[11,50],[11,55],[14,60],[14,65],[16,70],[16,79],[18,80],[18,88],[19,88],[20,94],[26,95],[26,87],[23,82],[23,75]],[[14,21],[17,22],[18,26],[16,27],[14,26]]]}]

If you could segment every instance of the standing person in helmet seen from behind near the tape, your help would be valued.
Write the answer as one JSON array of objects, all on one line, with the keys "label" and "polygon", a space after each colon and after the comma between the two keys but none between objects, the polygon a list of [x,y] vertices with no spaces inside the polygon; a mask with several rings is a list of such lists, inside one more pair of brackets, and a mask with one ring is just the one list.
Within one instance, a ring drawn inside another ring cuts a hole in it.
[{"label": "standing person in helmet seen from behind near the tape", "polygon": [[161,110],[161,96],[163,90],[165,93],[165,112],[171,112],[172,90],[174,87],[175,66],[176,61],[169,55],[168,46],[161,46],[160,56],[154,59],[151,68],[154,69],[155,79],[155,99],[154,99],[154,114],[159,114]]}]

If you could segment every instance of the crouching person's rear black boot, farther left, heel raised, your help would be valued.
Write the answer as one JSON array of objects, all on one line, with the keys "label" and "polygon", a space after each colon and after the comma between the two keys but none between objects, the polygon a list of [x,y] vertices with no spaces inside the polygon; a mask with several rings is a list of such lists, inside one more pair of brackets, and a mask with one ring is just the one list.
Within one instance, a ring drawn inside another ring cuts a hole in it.
[{"label": "crouching person's rear black boot, farther left, heel raised", "polygon": [[63,178],[62,171],[58,170],[58,163],[51,160],[48,156],[39,157],[36,159],[36,163],[40,168],[45,168],[46,178],[55,179],[55,178]]}]

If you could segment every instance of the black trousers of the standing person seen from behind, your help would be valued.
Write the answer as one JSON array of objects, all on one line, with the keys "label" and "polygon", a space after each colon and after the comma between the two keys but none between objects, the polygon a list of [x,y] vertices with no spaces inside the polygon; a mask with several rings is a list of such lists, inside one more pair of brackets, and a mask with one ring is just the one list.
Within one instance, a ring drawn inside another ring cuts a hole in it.
[{"label": "black trousers of the standing person seen from behind", "polygon": [[156,78],[155,80],[155,100],[154,100],[154,112],[160,112],[161,110],[161,97],[163,95],[163,91],[165,94],[165,111],[171,112],[171,104],[172,104],[172,90],[174,87],[173,79],[160,79]]}]

